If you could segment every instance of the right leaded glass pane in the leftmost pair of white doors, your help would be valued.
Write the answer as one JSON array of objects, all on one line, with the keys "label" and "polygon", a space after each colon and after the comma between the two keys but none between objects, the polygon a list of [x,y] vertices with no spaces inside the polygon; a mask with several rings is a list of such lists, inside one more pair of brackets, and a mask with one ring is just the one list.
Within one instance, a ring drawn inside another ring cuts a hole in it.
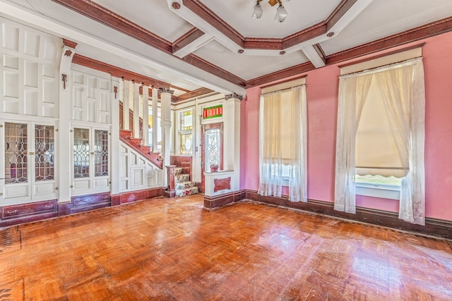
[{"label": "right leaded glass pane in the leftmost pair of white doors", "polygon": [[35,180],[54,179],[54,127],[35,125]]}]

